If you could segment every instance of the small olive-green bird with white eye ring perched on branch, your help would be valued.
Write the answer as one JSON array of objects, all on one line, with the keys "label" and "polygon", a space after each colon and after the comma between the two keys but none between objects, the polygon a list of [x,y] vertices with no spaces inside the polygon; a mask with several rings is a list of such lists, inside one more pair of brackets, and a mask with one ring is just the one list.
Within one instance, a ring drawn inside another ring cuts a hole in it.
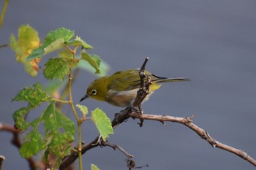
[{"label": "small olive-green bird with white eye ring perched on branch", "polygon": [[[118,71],[111,76],[99,77],[91,82],[86,90],[86,95],[80,101],[86,98],[94,98],[98,101],[105,101],[116,107],[129,107],[135,100],[137,91],[140,88],[140,75],[138,69],[128,69]],[[150,72],[144,71],[146,77],[151,77],[151,85],[149,86],[149,94],[144,98],[146,101],[155,90],[161,87],[161,82],[186,82],[189,78],[176,77],[167,78],[159,77]],[[145,81],[146,81],[145,77]]]}]

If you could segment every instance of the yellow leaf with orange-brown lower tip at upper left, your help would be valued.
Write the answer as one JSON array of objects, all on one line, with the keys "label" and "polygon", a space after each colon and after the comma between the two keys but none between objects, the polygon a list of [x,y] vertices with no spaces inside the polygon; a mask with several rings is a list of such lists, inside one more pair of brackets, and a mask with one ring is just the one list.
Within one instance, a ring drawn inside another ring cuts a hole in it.
[{"label": "yellow leaf with orange-brown lower tip at upper left", "polygon": [[31,76],[36,77],[39,71],[39,59],[26,61],[31,51],[40,45],[37,31],[29,25],[22,25],[18,29],[18,40],[14,35],[10,36],[10,46],[16,53],[16,59],[19,63],[24,63],[25,70]]}]

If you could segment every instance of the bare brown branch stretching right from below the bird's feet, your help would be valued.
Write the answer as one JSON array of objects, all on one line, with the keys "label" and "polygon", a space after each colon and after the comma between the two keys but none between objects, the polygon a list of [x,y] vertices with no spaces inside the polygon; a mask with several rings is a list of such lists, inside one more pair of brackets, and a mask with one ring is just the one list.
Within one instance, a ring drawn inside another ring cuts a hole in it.
[{"label": "bare brown branch stretching right from below the bird's feet", "polygon": [[192,118],[195,117],[195,115],[192,115],[192,117],[173,117],[168,115],[148,115],[148,114],[139,115],[136,112],[130,112],[129,115],[134,119],[138,118],[140,120],[157,120],[161,123],[173,122],[173,123],[181,123],[183,125],[186,125],[190,129],[195,131],[202,139],[205,139],[209,144],[211,144],[212,147],[219,147],[222,150],[232,152],[233,154],[238,155],[239,157],[243,158],[245,161],[248,161],[249,163],[252,163],[252,165],[256,166],[255,159],[250,157],[244,150],[238,150],[234,147],[228,146],[227,144],[222,144],[221,142],[218,142],[216,139],[212,138],[206,130],[203,130],[203,128],[200,128],[194,123],[192,123]]}]

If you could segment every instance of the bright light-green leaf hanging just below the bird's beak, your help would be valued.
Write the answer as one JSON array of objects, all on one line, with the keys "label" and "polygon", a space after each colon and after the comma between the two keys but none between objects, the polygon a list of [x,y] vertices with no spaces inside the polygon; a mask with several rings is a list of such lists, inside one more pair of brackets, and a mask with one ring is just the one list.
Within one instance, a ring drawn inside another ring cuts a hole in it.
[{"label": "bright light-green leaf hanging just below the bird's beak", "polygon": [[110,134],[113,134],[113,128],[110,119],[101,109],[97,108],[91,112],[91,120],[96,125],[99,134],[102,136],[104,141]]}]

